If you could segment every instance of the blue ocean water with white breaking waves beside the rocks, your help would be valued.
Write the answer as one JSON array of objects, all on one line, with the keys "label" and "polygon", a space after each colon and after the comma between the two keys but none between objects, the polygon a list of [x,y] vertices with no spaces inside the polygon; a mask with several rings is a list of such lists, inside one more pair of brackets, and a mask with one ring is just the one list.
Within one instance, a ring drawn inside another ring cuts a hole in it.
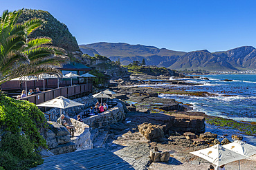
[{"label": "blue ocean water with white breaking waves beside the rocks", "polygon": [[[193,75],[195,76],[195,75]],[[176,94],[160,94],[161,98],[174,98],[182,103],[190,103],[193,111],[202,111],[210,116],[230,118],[237,121],[256,122],[256,75],[255,74],[212,74],[198,75],[201,78],[181,78],[190,83],[200,85],[172,85],[158,83],[157,85],[139,85],[145,87],[171,87],[191,92],[209,92],[214,96],[199,97]],[[208,78],[202,79],[202,78]],[[170,79],[173,79],[172,77]],[[225,79],[232,81],[223,81]],[[206,124],[206,131],[218,135],[239,134],[236,129],[217,128]],[[244,140],[256,145],[255,136],[245,136]],[[231,136],[228,137],[229,140]]]}]

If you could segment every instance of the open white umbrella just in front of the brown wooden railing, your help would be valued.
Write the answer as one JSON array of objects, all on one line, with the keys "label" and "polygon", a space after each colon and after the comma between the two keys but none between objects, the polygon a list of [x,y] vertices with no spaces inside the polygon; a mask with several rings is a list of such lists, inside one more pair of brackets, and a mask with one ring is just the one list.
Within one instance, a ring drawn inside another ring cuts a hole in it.
[{"label": "open white umbrella just in front of the brown wooden railing", "polygon": [[52,100],[48,100],[44,103],[40,103],[37,106],[42,107],[55,107],[60,108],[60,117],[62,116],[62,109],[66,109],[69,107],[75,107],[75,106],[83,106],[84,104],[78,103],[74,100],[70,100],[68,98],[65,98],[63,96],[58,96],[57,98],[53,98]]}]

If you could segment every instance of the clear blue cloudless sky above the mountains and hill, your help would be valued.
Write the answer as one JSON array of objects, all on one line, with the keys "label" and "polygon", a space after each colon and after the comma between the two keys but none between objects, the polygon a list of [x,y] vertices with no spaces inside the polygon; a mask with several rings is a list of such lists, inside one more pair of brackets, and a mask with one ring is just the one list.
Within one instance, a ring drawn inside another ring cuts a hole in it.
[{"label": "clear blue cloudless sky above the mountains and hill", "polygon": [[0,11],[47,10],[78,44],[110,42],[210,52],[256,47],[255,0],[0,0]]}]

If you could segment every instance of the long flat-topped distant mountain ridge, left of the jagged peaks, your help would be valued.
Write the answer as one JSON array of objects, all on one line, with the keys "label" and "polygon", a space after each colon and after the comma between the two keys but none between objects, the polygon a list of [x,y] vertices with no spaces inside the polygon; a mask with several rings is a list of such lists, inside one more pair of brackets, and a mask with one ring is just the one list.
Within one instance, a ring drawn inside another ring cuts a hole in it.
[{"label": "long flat-topped distant mountain ridge, left of the jagged peaks", "polygon": [[185,52],[176,52],[165,48],[158,49],[153,46],[129,45],[127,43],[93,43],[79,45],[79,47],[80,50],[84,47],[93,48],[100,53],[100,55],[109,57],[111,61],[117,61],[118,58],[120,58],[121,63],[124,65],[132,61],[143,61],[143,59],[145,59],[147,65],[168,67],[172,65],[179,56],[185,54]]}]

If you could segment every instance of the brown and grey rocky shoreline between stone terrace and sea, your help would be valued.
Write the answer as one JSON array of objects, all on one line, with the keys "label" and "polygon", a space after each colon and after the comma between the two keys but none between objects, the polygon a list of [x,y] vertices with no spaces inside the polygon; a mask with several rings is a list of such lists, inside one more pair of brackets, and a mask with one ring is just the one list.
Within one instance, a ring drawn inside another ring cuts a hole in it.
[{"label": "brown and grey rocky shoreline between stone terrace and sea", "polygon": [[[172,80],[167,82],[187,83]],[[204,133],[205,126],[200,126],[200,121],[203,121],[204,124],[205,118],[212,118],[212,116],[192,111],[191,105],[177,102],[174,99],[158,98],[159,93],[178,93],[178,90],[134,87],[134,85],[144,83],[154,84],[157,82],[119,80],[118,86],[111,89],[116,92],[113,98],[122,100],[127,106],[127,114],[126,120],[121,123],[122,128],[111,129],[111,135],[104,147],[129,162],[135,169],[191,169],[191,167],[194,169],[208,169],[209,162],[192,156],[189,152],[210,147],[217,143],[226,144],[230,142],[227,136],[229,135],[229,138],[231,138],[231,135],[222,134],[218,136],[210,132]],[[200,95],[208,96],[209,94],[202,92]],[[196,122],[197,127],[194,126],[194,129],[190,127],[186,129],[187,131],[182,131],[175,126],[175,121],[179,119],[182,119],[179,127],[183,129],[193,121]],[[232,135],[232,138],[241,139],[241,136],[237,134]],[[149,152],[155,147],[161,151],[168,151],[171,156],[170,160],[165,163],[150,160]],[[256,158],[253,157],[253,159],[242,160],[241,162],[246,162],[248,169],[255,169]],[[236,164],[237,162],[232,162],[228,164],[227,168],[236,169]]]}]

